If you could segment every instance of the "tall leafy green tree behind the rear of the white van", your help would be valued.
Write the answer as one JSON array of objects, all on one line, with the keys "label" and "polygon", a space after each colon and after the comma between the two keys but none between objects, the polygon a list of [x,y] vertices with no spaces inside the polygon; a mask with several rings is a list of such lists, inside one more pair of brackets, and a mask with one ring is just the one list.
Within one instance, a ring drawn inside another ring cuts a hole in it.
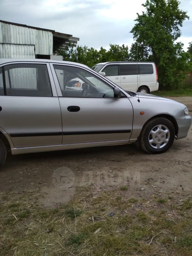
[{"label": "tall leafy green tree behind the rear of the white van", "polygon": [[[160,88],[179,86],[190,69],[188,53],[183,51],[181,43],[175,43],[183,21],[189,19],[179,4],[177,0],[147,0],[142,4],[146,10],[141,15],[137,13],[136,24],[130,31],[142,46],[140,59],[156,62]],[[133,56],[135,47],[136,44],[132,46]]]}]

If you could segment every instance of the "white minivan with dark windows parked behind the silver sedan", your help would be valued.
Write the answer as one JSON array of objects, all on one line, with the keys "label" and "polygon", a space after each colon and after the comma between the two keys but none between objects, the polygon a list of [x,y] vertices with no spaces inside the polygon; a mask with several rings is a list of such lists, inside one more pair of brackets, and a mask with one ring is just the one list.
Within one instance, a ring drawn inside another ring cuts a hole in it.
[{"label": "white minivan with dark windows parked behind the silver sedan", "polygon": [[159,88],[154,62],[104,62],[95,65],[92,69],[127,91],[150,93]]}]

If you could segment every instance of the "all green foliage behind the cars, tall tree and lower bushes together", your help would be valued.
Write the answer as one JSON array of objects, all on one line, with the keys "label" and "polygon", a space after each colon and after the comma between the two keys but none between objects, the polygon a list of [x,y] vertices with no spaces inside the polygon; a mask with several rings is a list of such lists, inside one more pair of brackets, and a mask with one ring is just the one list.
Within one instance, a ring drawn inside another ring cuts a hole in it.
[{"label": "all green foliage behind the cars, tall tree and lower bushes together", "polygon": [[180,27],[187,12],[179,9],[178,0],[147,0],[145,12],[138,15],[136,24],[130,31],[135,43],[131,48],[124,44],[110,44],[107,51],[87,46],[69,46],[58,50],[63,60],[74,61],[93,67],[106,61],[154,61],[157,65],[159,88],[179,89],[186,74],[192,69],[192,42],[188,52],[183,44],[176,42],[180,37]]}]

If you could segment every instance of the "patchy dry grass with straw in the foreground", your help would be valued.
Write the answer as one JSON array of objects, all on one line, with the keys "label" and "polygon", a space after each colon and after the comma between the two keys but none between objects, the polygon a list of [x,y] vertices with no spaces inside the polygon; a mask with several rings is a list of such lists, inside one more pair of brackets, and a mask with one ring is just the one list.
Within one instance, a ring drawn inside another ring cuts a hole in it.
[{"label": "patchy dry grass with straw in the foreground", "polygon": [[191,197],[160,204],[81,188],[68,204],[43,209],[39,196],[0,194],[1,256],[192,255]]}]

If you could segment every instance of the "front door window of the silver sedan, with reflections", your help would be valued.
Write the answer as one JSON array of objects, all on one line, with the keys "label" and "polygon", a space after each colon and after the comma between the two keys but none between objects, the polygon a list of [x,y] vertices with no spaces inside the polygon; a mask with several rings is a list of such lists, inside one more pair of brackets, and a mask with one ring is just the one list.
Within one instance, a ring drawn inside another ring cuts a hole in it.
[{"label": "front door window of the silver sedan, with reflections", "polygon": [[53,65],[63,97],[113,98],[113,88],[92,73],[76,67]]}]

